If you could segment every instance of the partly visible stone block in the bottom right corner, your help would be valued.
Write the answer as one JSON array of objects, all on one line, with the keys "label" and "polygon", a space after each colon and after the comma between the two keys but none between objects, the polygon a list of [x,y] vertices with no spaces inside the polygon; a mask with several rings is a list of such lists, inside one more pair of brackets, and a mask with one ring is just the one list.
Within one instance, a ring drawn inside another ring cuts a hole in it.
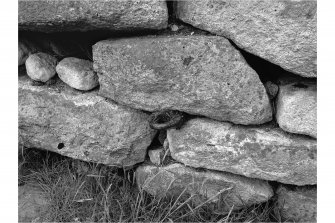
[{"label": "partly visible stone block in the bottom right corner", "polygon": [[280,186],[276,191],[281,216],[287,221],[316,222],[317,191],[314,188],[289,189]]}]

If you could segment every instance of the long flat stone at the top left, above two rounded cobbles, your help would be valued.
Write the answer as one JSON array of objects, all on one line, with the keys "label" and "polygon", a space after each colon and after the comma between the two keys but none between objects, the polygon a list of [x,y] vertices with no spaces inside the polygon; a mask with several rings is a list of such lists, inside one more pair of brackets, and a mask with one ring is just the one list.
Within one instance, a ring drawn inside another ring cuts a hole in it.
[{"label": "long flat stone at the top left, above two rounded cobbles", "polygon": [[19,1],[19,29],[41,32],[164,29],[165,1]]}]

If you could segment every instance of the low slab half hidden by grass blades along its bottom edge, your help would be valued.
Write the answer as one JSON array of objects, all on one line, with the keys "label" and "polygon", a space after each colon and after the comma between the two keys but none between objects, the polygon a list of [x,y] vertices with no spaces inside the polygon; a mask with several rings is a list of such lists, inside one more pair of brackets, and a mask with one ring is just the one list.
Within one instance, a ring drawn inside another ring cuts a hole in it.
[{"label": "low slab half hidden by grass blades along its bottom edge", "polygon": [[244,206],[265,202],[273,196],[266,181],[250,179],[230,173],[196,171],[182,164],[165,167],[140,166],[136,170],[140,188],[151,195],[163,197],[179,196],[185,188],[185,195],[195,195],[196,203],[211,200],[210,203],[224,202],[223,209],[237,210]]}]

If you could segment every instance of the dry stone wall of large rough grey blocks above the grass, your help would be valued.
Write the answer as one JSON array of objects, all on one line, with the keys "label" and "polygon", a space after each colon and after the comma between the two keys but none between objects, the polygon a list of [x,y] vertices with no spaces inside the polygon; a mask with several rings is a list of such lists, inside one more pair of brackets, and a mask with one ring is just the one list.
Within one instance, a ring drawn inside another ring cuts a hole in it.
[{"label": "dry stone wall of large rough grey blocks above the grass", "polygon": [[19,143],[316,221],[316,18],[316,1],[19,1]]}]

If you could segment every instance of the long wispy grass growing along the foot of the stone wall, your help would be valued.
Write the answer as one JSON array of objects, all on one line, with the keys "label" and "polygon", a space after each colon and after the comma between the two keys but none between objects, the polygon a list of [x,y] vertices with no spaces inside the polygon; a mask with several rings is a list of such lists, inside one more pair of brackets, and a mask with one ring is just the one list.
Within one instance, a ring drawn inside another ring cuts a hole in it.
[{"label": "long wispy grass growing along the foot of the stone wall", "polygon": [[39,186],[49,200],[41,221],[281,222],[272,200],[239,211],[216,212],[206,202],[192,204],[186,194],[153,197],[136,187],[129,171],[79,161],[86,166],[80,171],[76,163],[33,149],[26,149],[19,157],[19,184]]}]

